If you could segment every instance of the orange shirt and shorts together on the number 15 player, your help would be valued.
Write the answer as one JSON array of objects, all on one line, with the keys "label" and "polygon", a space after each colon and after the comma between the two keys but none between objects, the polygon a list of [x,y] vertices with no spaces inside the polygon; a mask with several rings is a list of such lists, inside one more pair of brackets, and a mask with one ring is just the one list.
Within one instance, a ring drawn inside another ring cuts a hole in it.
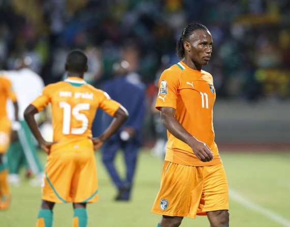
[{"label": "orange shirt and shorts together on the number 15 player", "polygon": [[113,116],[121,106],[79,78],[46,86],[32,105],[51,103],[53,141],[47,157],[42,199],[55,203],[98,201],[92,123],[98,108]]}]

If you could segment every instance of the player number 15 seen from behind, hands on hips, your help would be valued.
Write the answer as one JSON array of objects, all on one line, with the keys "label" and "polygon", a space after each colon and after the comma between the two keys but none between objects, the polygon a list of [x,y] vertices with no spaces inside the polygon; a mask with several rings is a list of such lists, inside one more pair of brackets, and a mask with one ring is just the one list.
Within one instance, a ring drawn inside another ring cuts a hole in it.
[{"label": "player number 15 seen from behind, hands on hips", "polygon": [[[98,201],[94,150],[98,149],[128,117],[127,110],[108,94],[83,80],[88,58],[79,50],[66,60],[68,78],[46,86],[24,111],[24,118],[40,147],[48,154],[42,184],[42,204],[37,227],[51,227],[55,203],[73,203],[74,227],[88,222],[86,203]],[[51,103],[53,142],[43,139],[34,115]],[[98,108],[113,120],[98,138],[92,138],[92,123]]]}]

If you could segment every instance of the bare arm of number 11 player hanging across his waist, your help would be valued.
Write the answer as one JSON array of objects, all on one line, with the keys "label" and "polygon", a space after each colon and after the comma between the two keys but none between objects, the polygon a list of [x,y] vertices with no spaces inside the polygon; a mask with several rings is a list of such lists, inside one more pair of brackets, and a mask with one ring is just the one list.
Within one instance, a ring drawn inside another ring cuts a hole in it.
[{"label": "bare arm of number 11 player hanging across his waist", "polygon": [[171,107],[161,107],[160,111],[162,123],[173,136],[188,144],[196,157],[202,162],[213,160],[213,153],[209,146],[190,135],[175,118],[175,109]]}]

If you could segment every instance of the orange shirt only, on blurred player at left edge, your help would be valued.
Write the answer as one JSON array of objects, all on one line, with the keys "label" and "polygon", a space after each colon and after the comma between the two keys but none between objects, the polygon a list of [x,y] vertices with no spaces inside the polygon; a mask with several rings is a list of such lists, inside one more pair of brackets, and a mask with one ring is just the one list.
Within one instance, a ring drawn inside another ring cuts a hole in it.
[{"label": "orange shirt only, on blurred player at left edge", "polygon": [[11,82],[3,75],[0,75],[0,119],[7,119],[6,103],[8,98],[10,98],[13,103],[16,102],[16,95],[12,90]]}]

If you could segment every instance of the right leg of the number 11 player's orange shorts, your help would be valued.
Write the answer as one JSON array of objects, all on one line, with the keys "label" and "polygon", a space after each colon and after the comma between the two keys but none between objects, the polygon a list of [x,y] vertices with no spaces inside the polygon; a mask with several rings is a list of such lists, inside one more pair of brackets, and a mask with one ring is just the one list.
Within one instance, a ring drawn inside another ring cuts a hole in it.
[{"label": "right leg of the number 11 player's orange shorts", "polygon": [[223,165],[205,166],[204,186],[198,212],[228,210],[228,185]]}]

